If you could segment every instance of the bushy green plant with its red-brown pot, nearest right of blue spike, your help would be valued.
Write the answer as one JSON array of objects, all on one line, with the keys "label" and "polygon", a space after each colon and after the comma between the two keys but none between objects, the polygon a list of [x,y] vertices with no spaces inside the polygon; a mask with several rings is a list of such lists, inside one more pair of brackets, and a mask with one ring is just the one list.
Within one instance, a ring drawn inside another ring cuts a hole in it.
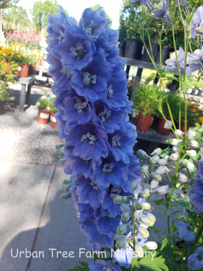
[{"label": "bushy green plant with its red-brown pot, nearest right of blue spike", "polygon": [[149,131],[153,121],[153,115],[157,114],[156,98],[158,98],[159,87],[155,84],[144,85],[139,83],[135,91],[134,107],[139,112],[136,126],[138,130]]}]

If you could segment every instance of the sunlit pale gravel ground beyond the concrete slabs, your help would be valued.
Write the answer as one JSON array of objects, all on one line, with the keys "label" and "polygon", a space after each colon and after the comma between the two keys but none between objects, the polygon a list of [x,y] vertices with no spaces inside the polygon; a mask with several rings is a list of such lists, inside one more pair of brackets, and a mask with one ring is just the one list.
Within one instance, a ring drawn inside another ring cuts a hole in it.
[{"label": "sunlit pale gravel ground beyond the concrete slabs", "polygon": [[[10,92],[10,100],[0,109],[0,160],[6,162],[30,163],[41,165],[59,165],[60,150],[55,145],[63,143],[58,137],[59,131],[49,124],[37,122],[38,108],[35,106],[39,97],[49,88],[33,86],[31,105],[24,112],[19,112],[20,91]],[[64,165],[63,165],[64,166]]]}]

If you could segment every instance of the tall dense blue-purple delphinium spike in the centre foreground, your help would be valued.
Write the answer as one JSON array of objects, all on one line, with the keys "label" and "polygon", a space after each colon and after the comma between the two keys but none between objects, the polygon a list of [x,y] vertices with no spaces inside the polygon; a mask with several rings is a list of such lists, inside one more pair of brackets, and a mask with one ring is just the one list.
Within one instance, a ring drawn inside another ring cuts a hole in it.
[{"label": "tall dense blue-purple delphinium spike in the centre foreground", "polygon": [[[128,117],[133,109],[125,60],[119,57],[118,32],[109,23],[102,8],[85,9],[78,24],[59,6],[59,14],[48,16],[47,28],[55,117],[65,139],[61,162],[72,175],[63,182],[61,198],[75,201],[80,230],[92,250],[114,247],[123,212],[113,199],[131,195],[133,180],[142,180],[133,155],[137,133]],[[141,189],[138,184],[135,193]],[[117,268],[97,263],[102,270]]]}]

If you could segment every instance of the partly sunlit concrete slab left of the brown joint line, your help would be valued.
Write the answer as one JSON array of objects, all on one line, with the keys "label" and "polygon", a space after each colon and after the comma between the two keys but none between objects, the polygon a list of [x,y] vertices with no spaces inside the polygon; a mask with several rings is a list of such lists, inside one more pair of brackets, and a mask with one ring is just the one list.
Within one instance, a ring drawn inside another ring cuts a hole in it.
[{"label": "partly sunlit concrete slab left of the brown joint line", "polygon": [[28,258],[11,257],[31,250],[53,166],[0,162],[0,270],[25,271]]}]

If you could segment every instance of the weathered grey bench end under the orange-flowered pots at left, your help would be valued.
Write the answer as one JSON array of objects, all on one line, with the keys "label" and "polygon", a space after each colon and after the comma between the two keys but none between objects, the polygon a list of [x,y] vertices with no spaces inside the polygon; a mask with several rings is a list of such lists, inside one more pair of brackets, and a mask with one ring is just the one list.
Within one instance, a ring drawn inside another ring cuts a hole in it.
[{"label": "weathered grey bench end under the orange-flowered pots at left", "polygon": [[[21,94],[20,94],[20,102],[19,102],[19,111],[24,111],[24,104],[30,103],[30,91],[33,81],[35,80],[35,76],[28,76],[28,77],[19,77],[19,79],[16,78],[16,82],[21,84]],[[26,86],[27,86],[27,95],[26,95]],[[25,100],[26,95],[26,100]]]}]

